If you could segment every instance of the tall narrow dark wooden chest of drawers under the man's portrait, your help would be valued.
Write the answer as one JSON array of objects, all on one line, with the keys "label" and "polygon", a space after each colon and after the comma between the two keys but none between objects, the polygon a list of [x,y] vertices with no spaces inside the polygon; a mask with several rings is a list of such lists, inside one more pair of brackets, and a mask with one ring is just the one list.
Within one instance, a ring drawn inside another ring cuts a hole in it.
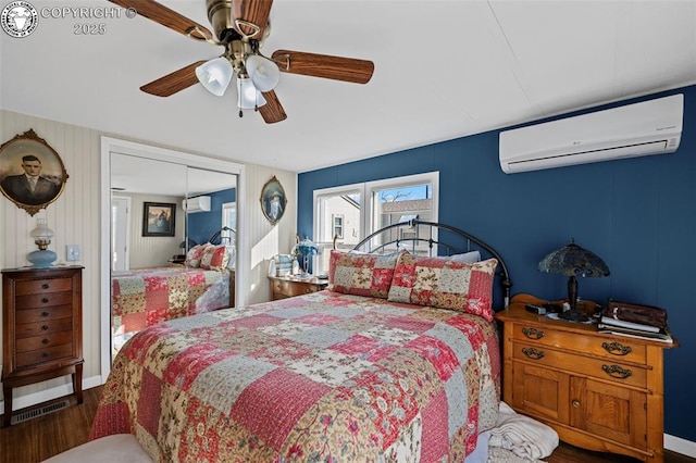
[{"label": "tall narrow dark wooden chest of drawers under the man's portrait", "polygon": [[83,402],[82,266],[2,271],[3,426],[12,389],[72,375]]}]

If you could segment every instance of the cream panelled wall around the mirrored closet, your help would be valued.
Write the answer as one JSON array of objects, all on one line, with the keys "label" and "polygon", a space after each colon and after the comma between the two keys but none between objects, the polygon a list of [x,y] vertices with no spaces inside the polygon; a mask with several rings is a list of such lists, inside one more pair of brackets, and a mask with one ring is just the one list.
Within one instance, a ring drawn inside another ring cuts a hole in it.
[{"label": "cream panelled wall around the mirrored closet", "polygon": [[[109,243],[109,229],[100,225],[100,147],[102,135],[85,127],[47,121],[24,114],[0,110],[0,143],[17,134],[33,128],[61,157],[69,178],[65,188],[55,202],[41,210],[34,217],[18,209],[10,200],[0,196],[0,265],[11,268],[28,265],[26,254],[36,249],[29,238],[29,232],[36,226],[36,217],[48,218],[55,236],[50,249],[58,253],[57,264],[65,260],[65,245],[79,245],[83,273],[83,351],[85,356],[85,387],[100,383],[100,247]],[[135,140],[147,143],[144,140]],[[167,147],[176,149],[175,147]],[[204,153],[196,153],[204,155]],[[247,165],[245,183],[249,205],[243,223],[247,234],[245,268],[247,303],[262,302],[269,299],[269,283],[265,277],[268,261],[277,252],[288,252],[295,240],[297,221],[297,175],[275,168]],[[285,215],[276,226],[265,220],[261,212],[259,198],[261,188],[273,176],[285,188],[288,205]],[[174,253],[173,251],[172,253]],[[241,271],[241,270],[240,270]],[[108,310],[108,309],[107,309]],[[57,378],[38,385],[14,389],[14,408],[28,406],[45,400],[50,391],[65,390],[70,377]],[[3,409],[3,408],[2,408]]]}]

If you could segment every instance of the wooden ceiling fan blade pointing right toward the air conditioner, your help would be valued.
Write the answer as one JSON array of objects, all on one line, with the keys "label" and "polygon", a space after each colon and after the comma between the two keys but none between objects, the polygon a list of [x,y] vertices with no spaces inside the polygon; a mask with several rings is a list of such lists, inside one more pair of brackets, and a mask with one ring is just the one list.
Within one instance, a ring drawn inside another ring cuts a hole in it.
[{"label": "wooden ceiling fan blade pointing right toward the air conditioner", "polygon": [[374,73],[374,63],[372,61],[355,58],[289,50],[274,51],[272,58],[284,73],[302,74],[355,84],[366,84],[370,82],[372,73]]}]

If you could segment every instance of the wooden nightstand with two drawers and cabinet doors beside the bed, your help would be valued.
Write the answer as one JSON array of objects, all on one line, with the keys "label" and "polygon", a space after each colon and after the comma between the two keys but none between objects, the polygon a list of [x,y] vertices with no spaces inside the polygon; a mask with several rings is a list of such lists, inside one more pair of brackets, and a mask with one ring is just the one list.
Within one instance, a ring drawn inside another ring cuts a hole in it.
[{"label": "wooden nightstand with two drawers and cabinet doors beside the bed", "polygon": [[[519,300],[519,299],[518,299]],[[504,400],[588,450],[663,461],[662,349],[673,343],[554,321],[512,298],[504,327]]]}]

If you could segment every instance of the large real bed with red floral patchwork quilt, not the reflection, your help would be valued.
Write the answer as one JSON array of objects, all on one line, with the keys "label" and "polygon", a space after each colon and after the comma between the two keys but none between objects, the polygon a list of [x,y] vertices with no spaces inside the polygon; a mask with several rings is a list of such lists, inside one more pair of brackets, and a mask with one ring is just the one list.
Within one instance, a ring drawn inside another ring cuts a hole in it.
[{"label": "large real bed with red floral patchwork quilt, not the reflection", "polygon": [[507,300],[510,279],[456,234],[492,256],[382,240],[382,253],[332,251],[327,290],[141,330],[114,359],[91,438],[133,434],[162,462],[464,461],[496,422],[492,295],[499,279]]}]

